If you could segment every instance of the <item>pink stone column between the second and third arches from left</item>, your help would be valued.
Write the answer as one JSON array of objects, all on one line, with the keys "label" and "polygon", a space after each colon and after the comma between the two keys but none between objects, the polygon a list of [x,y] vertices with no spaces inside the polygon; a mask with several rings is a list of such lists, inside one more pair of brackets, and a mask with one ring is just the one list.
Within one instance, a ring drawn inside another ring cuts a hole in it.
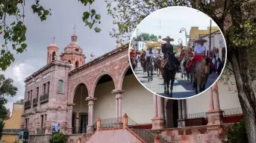
[{"label": "pink stone column between the second and third arches from left", "polygon": [[122,93],[123,90],[113,89],[112,94],[116,95],[116,123],[122,124]]}]

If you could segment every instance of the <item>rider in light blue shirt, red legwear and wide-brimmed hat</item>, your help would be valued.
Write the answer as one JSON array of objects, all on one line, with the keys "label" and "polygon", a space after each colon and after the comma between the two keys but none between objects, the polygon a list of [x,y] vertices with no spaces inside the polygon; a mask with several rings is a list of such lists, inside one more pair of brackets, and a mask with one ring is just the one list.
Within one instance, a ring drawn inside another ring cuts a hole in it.
[{"label": "rider in light blue shirt, red legwear and wide-brimmed hat", "polygon": [[[195,42],[199,43],[199,45],[196,45],[194,47],[194,57],[190,61],[189,65],[187,66],[187,71],[189,71],[189,72],[193,68],[192,66],[194,65],[194,63],[196,61],[201,62],[204,59],[204,57],[206,57],[205,56],[206,48],[205,48],[204,42],[207,42],[207,40],[206,39],[197,39]],[[215,67],[212,65],[213,65],[213,63],[210,62],[211,69],[213,69],[215,71]]]}]

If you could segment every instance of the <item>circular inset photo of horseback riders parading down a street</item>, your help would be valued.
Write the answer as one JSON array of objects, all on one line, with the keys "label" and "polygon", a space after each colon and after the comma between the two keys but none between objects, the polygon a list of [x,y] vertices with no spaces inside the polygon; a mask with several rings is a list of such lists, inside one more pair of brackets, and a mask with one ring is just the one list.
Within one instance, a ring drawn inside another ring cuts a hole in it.
[{"label": "circular inset photo of horseback riders parading down a street", "polygon": [[150,14],[132,34],[129,58],[135,77],[163,98],[191,98],[222,74],[225,38],[199,10],[166,7]]}]

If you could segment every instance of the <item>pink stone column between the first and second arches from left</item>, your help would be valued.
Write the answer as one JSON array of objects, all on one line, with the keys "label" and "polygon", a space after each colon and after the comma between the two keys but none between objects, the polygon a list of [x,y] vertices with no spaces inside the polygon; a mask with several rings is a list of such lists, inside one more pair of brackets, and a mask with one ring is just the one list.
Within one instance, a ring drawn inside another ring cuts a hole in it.
[{"label": "pink stone column between the first and second arches from left", "polygon": [[[97,100],[97,98],[92,98],[91,96],[89,96],[85,100],[88,101],[88,125],[87,125],[87,131],[88,131],[93,126],[93,104],[94,104],[94,101]],[[88,131],[88,133],[91,133],[91,132]]]}]

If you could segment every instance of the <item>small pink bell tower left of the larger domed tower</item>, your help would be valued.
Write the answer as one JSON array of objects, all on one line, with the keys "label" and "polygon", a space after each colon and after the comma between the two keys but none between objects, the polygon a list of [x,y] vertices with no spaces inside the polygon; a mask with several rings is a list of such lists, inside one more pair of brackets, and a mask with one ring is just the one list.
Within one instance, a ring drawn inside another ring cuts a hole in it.
[{"label": "small pink bell tower left of the larger domed tower", "polygon": [[47,47],[47,64],[51,63],[53,60],[57,60],[57,51],[59,50],[59,48],[55,44],[54,40],[55,37],[53,38],[51,44]]}]

